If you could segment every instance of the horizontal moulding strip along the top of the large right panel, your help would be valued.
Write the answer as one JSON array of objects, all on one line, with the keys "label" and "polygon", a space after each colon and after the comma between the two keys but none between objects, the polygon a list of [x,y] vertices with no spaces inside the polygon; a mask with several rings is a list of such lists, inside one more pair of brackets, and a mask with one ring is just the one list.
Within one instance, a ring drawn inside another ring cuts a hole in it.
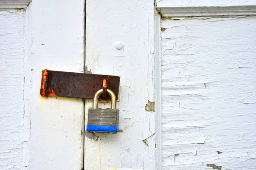
[{"label": "horizontal moulding strip along the top of the large right panel", "polygon": [[252,16],[256,15],[256,5],[250,6],[198,6],[198,7],[158,7],[162,17],[202,17],[202,16]]}]

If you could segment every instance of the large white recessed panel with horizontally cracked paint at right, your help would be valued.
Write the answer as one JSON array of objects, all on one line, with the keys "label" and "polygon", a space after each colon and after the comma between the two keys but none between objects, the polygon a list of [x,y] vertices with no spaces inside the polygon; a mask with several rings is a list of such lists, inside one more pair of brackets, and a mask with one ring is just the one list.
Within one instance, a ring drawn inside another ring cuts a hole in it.
[{"label": "large white recessed panel with horizontally cracked paint at right", "polygon": [[163,170],[255,170],[256,18],[161,27]]}]

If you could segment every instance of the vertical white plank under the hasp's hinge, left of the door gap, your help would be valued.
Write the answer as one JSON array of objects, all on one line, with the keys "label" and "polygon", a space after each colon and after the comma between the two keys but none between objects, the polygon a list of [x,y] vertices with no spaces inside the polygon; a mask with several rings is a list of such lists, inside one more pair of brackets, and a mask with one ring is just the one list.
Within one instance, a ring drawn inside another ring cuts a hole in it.
[{"label": "vertical white plank under the hasp's hinge, left of the door gap", "polygon": [[[26,10],[31,46],[28,101],[31,127],[29,169],[83,168],[82,99],[42,97],[42,70],[84,72],[84,0],[33,0]],[[29,38],[29,37],[28,37]]]}]

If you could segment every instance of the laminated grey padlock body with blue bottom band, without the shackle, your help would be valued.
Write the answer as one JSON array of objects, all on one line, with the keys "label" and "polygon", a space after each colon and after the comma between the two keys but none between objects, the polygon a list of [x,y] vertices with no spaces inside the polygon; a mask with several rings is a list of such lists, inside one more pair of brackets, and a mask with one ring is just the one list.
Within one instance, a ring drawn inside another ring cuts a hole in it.
[{"label": "laminated grey padlock body with blue bottom band, without the shackle", "polygon": [[118,109],[89,109],[87,131],[118,132]]}]

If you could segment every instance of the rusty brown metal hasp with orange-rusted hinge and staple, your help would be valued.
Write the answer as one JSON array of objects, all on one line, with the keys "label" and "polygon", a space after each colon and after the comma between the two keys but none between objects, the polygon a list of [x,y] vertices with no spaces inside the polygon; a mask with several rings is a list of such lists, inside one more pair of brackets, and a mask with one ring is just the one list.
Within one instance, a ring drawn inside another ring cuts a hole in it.
[{"label": "rusty brown metal hasp with orange-rusted hinge and staple", "polygon": [[[103,80],[103,82],[102,82]],[[99,89],[107,87],[116,94],[119,93],[119,76],[73,73],[64,71],[43,70],[41,79],[41,96],[62,96],[93,99]],[[99,97],[99,100],[111,100],[109,94]]]}]

